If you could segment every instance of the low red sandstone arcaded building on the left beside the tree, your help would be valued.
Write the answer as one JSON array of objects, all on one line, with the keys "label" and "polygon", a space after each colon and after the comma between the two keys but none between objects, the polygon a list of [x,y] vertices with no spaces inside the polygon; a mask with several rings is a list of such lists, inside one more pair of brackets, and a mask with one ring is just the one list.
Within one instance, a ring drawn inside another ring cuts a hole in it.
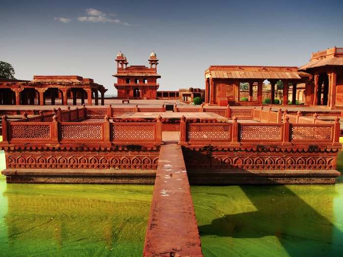
[{"label": "low red sandstone arcaded building on the left beside the tree", "polygon": [[[107,91],[102,85],[94,83],[93,79],[81,76],[33,76],[33,80],[0,79],[0,105],[68,105],[68,98],[77,99],[81,104],[98,105],[98,92],[101,94],[101,105],[104,105],[104,93]],[[58,101],[56,101],[56,99]],[[47,101],[48,100],[48,101]]]}]

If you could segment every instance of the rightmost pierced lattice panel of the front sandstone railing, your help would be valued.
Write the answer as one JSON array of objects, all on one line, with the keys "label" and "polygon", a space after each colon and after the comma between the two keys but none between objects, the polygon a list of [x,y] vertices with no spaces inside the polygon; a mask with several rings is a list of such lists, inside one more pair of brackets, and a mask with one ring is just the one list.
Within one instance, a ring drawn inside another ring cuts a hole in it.
[{"label": "rightmost pierced lattice panel of the front sandstone railing", "polygon": [[292,125],[292,140],[331,140],[332,126]]}]

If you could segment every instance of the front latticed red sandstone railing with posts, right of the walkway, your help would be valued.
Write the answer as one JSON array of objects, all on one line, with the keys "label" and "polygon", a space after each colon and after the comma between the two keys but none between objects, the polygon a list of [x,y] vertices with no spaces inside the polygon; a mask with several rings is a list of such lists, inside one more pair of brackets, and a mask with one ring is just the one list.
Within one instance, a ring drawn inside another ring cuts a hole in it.
[{"label": "front latticed red sandstone railing with posts, right of the walkway", "polygon": [[[278,116],[280,116],[279,112]],[[289,117],[286,117],[283,123],[240,123],[237,122],[237,117],[232,121],[232,123],[199,123],[181,117],[180,144],[338,144],[341,132],[339,117],[330,124],[291,124]]]}]

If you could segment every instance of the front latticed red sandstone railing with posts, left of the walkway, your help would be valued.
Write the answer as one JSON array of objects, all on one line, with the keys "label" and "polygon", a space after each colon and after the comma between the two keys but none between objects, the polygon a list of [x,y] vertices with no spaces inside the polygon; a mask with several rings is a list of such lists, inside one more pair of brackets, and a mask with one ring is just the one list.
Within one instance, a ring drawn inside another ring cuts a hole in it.
[{"label": "front latticed red sandstone railing with posts, left of the walkway", "polygon": [[162,142],[160,116],[156,122],[110,122],[107,116],[103,121],[95,122],[59,121],[57,116],[54,116],[51,122],[9,122],[4,116],[1,125],[3,141],[6,143],[110,145],[112,142],[140,145]]}]

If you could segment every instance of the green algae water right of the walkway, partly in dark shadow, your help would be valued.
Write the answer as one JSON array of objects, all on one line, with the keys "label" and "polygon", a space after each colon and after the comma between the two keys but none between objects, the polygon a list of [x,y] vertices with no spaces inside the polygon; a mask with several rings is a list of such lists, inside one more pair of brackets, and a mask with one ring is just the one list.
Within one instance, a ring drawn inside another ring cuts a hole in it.
[{"label": "green algae water right of the walkway, partly in dark shadow", "polygon": [[336,185],[191,190],[205,257],[343,256],[343,176]]}]

